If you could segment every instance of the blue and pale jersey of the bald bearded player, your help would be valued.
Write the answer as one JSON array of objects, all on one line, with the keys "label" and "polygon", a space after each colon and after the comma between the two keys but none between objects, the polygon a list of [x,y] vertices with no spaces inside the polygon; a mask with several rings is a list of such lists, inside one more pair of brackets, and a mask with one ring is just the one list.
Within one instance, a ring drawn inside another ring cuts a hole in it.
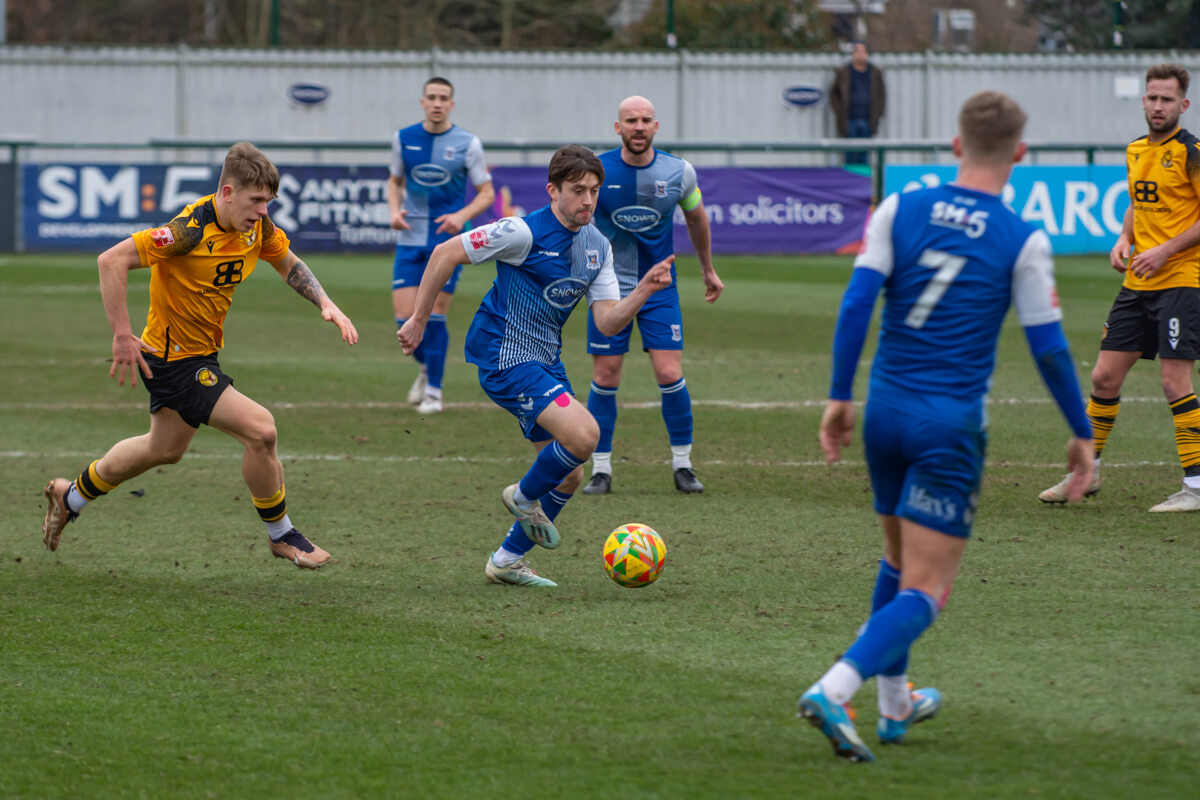
[{"label": "blue and pale jersey of the bald bearded player", "polygon": [[[631,167],[620,149],[600,155],[605,179],[596,200],[595,225],[612,242],[613,264],[626,296],[646,272],[674,253],[674,210],[700,204],[696,170],[661,150],[646,167]],[[674,267],[671,267],[672,289]]]}]

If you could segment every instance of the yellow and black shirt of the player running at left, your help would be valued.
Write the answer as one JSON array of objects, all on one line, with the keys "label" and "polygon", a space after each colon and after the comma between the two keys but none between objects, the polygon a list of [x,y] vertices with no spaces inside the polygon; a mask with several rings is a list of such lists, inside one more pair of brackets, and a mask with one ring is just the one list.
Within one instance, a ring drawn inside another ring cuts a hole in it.
[{"label": "yellow and black shirt of the player running at left", "polygon": [[174,361],[216,353],[224,344],[233,293],[259,257],[288,252],[288,236],[263,217],[241,233],[217,218],[215,196],[202,197],[162,228],[133,234],[138,258],[150,267],[150,313],[142,341]]}]

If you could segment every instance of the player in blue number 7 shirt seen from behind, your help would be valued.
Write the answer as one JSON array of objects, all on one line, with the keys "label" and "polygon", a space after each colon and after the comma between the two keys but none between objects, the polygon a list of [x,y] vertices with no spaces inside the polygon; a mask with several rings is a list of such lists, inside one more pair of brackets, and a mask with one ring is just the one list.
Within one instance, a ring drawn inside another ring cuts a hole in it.
[{"label": "player in blue number 7 shirt seen from behind", "polygon": [[883,744],[942,706],[937,690],[908,688],[908,650],[946,604],[971,535],[988,444],[984,403],[1009,305],[1073,433],[1068,498],[1080,500],[1091,485],[1092,429],[1062,332],[1050,241],[1000,199],[1025,155],[1025,120],[1001,92],[967,100],[954,182],[880,204],[842,297],[821,446],[834,463],[850,444],[854,371],[883,289],[863,420],[883,559],[870,619],[800,697],[799,714],[854,762],[874,759],[845,709],[866,679],[877,678]]}]

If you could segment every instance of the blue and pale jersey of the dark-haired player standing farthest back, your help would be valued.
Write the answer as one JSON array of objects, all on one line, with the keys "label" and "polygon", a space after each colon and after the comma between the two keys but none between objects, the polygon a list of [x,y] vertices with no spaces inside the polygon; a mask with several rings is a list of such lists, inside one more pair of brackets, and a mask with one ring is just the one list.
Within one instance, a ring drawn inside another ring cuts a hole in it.
[{"label": "blue and pale jersey of the dark-haired player standing farthest back", "polygon": [[480,186],[492,180],[479,138],[456,125],[430,133],[422,122],[401,128],[391,139],[392,176],[404,179],[404,221],[400,246],[433,247],[451,234],[433,233],[434,219],[467,205],[467,181]]}]

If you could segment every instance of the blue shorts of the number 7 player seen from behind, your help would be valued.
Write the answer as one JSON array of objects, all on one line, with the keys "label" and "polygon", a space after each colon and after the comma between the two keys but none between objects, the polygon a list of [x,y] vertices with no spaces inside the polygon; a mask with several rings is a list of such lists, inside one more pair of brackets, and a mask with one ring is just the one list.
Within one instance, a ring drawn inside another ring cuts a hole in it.
[{"label": "blue shorts of the number 7 player seen from behind", "polygon": [[875,511],[967,539],[979,506],[988,432],[866,404],[863,446]]}]

